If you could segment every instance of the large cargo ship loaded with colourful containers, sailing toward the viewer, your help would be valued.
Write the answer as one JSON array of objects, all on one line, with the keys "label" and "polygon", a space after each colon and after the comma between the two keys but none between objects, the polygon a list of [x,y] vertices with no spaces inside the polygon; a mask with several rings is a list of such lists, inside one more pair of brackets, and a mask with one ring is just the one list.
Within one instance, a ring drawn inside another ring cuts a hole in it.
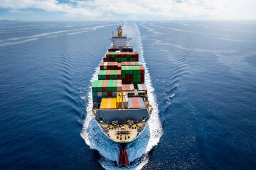
[{"label": "large cargo ship loaded with colourful containers, sailing toward the viewer", "polygon": [[100,130],[119,145],[119,166],[129,166],[127,143],[142,134],[153,108],[149,104],[145,69],[138,52],[127,43],[132,38],[112,33],[112,45],[100,63],[98,79],[92,84],[92,115]]}]

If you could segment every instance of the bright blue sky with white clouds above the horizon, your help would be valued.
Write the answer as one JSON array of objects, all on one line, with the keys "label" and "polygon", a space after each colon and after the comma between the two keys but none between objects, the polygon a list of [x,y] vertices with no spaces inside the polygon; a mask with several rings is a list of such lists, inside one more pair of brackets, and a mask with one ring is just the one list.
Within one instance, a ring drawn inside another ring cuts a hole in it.
[{"label": "bright blue sky with white clouds above the horizon", "polygon": [[256,20],[256,0],[0,0],[0,20]]}]

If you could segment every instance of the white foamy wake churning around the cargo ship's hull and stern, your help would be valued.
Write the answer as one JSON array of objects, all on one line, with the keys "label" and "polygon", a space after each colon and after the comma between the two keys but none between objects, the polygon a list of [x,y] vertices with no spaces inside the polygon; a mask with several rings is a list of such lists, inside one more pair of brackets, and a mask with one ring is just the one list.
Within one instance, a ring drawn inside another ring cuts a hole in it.
[{"label": "white foamy wake churning around the cargo ship's hull and stern", "polygon": [[[143,62],[145,68],[145,84],[148,89],[148,96],[151,106],[153,107],[153,113],[149,119],[148,125],[146,126],[142,135],[137,140],[130,142],[127,146],[127,155],[129,158],[130,166],[122,169],[142,169],[142,167],[148,162],[149,151],[158,144],[163,130],[161,128],[161,122],[159,120],[159,109],[156,103],[156,97],[154,96],[154,88],[151,85],[151,79],[146,68],[146,62],[144,60],[144,50],[141,40],[139,28],[136,23],[125,24],[124,33],[129,35],[133,40],[129,45],[134,47],[134,51],[139,52],[139,60]],[[91,81],[97,79],[99,67],[95,69]],[[102,157],[99,162],[105,169],[119,169],[117,162],[119,159],[119,144],[108,139],[98,127],[95,119],[92,116],[92,92],[87,92],[87,115],[85,122],[82,126],[81,136],[85,140],[86,144],[91,149],[96,149]]]}]

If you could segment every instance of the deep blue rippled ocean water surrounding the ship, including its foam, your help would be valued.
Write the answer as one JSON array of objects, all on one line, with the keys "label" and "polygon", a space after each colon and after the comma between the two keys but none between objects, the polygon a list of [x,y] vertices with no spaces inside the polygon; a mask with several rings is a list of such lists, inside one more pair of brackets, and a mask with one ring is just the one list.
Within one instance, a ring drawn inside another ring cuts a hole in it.
[{"label": "deep blue rippled ocean water surrounding the ship, including its foam", "polygon": [[90,86],[123,26],[154,114],[127,169],[256,169],[256,22],[1,22],[0,169],[119,169]]}]

